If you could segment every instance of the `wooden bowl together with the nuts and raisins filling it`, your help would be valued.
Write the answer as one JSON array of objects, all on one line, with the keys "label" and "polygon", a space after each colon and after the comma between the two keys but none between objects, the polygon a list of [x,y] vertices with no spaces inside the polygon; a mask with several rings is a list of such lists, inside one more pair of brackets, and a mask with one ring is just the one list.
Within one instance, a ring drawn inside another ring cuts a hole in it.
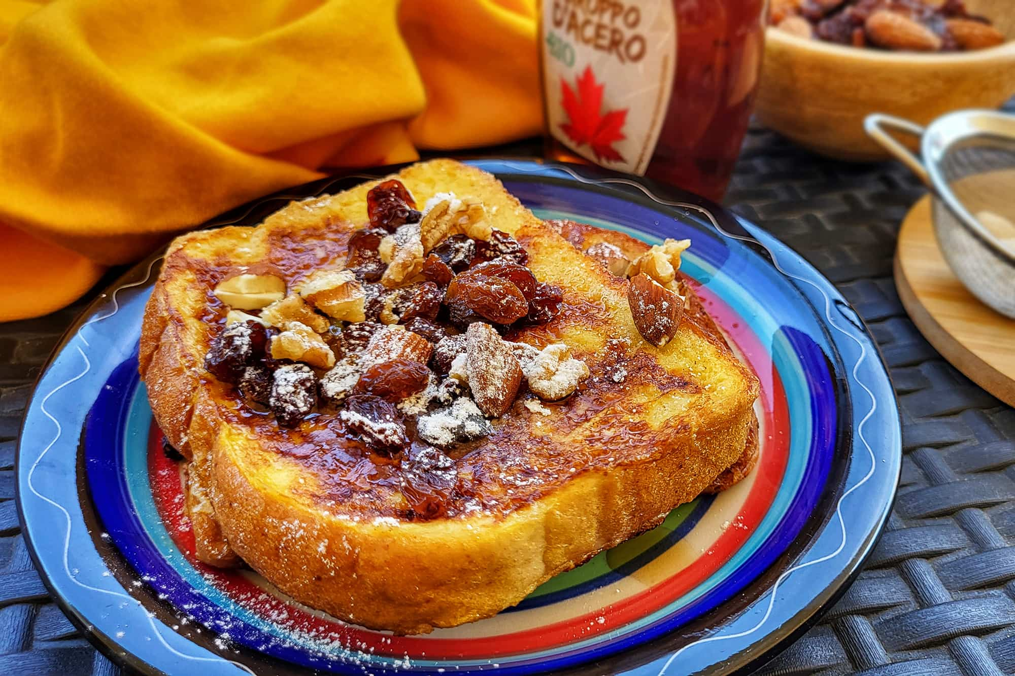
[{"label": "wooden bowl together with the nuts and raisins filling it", "polygon": [[869,113],[926,125],[1015,93],[1008,0],[790,0],[772,5],[772,20],[782,27],[765,36],[758,119],[829,157],[889,157],[864,133]]}]

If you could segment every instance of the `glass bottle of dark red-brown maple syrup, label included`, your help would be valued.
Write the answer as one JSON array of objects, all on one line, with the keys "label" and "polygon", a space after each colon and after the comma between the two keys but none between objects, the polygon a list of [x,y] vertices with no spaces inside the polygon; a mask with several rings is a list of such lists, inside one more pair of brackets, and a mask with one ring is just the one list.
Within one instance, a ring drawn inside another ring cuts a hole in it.
[{"label": "glass bottle of dark red-brown maple syrup, label included", "polygon": [[750,119],[767,0],[542,0],[546,154],[715,201]]}]

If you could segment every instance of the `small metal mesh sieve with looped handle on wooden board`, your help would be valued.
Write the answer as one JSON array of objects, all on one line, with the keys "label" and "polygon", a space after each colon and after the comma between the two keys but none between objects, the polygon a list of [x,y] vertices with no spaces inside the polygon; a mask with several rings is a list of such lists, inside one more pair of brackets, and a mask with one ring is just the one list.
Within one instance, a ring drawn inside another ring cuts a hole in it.
[{"label": "small metal mesh sieve with looped handle on wooden board", "polygon": [[[864,127],[931,189],[934,233],[955,276],[1015,318],[1015,115],[959,111],[924,129],[876,113]],[[920,137],[921,157],[887,130]]]}]

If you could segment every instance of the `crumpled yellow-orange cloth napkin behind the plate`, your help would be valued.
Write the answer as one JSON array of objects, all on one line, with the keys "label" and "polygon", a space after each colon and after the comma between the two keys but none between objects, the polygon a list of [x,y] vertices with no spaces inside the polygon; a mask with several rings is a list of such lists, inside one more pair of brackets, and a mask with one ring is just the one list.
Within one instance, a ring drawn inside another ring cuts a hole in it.
[{"label": "crumpled yellow-orange cloth napkin behind the plate", "polygon": [[322,166],[539,133],[534,5],[0,0],[0,321]]}]

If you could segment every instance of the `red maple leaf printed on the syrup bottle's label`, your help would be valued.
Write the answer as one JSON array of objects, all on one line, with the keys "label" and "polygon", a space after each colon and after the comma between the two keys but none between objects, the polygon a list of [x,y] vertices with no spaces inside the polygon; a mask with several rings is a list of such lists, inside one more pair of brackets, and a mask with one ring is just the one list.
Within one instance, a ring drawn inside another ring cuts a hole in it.
[{"label": "red maple leaf printed on the syrup bottle's label", "polygon": [[592,66],[587,66],[585,72],[576,80],[578,93],[570,85],[560,78],[560,93],[563,97],[564,111],[569,120],[560,125],[567,137],[579,146],[588,143],[596,159],[608,159],[622,162],[623,156],[613,147],[616,141],[627,138],[620,129],[627,120],[627,109],[608,111],[600,115],[603,105],[603,88],[605,85],[596,82]]}]

